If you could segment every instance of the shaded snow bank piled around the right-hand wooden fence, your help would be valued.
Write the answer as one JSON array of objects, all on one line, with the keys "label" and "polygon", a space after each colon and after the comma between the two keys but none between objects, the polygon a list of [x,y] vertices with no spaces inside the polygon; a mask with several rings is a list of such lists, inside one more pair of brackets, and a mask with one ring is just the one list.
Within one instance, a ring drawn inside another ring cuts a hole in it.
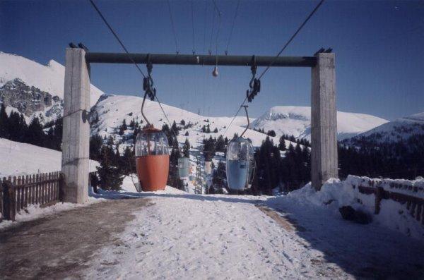
[{"label": "shaded snow bank piled around the right-hand wooden fence", "polygon": [[332,214],[338,215],[338,208],[351,205],[354,209],[367,212],[375,223],[389,229],[401,231],[407,236],[424,241],[424,225],[409,213],[406,204],[389,199],[380,202],[379,214],[375,212],[375,195],[360,193],[358,186],[365,182],[376,182],[384,190],[402,193],[414,197],[423,197],[423,179],[414,181],[371,179],[367,177],[348,176],[346,181],[331,178],[324,183],[320,191],[315,191],[309,184],[299,190],[289,193],[285,199],[297,200],[300,203],[326,207]]}]

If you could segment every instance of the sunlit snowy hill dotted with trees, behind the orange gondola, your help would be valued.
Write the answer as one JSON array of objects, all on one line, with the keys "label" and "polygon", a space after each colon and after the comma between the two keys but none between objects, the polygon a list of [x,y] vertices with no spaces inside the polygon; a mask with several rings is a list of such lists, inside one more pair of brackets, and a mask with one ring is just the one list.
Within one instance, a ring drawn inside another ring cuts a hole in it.
[{"label": "sunlit snowy hill dotted with trees, behind the orange gondola", "polygon": [[[143,102],[141,97],[102,95],[98,104],[95,104],[90,112],[90,123],[92,123],[91,135],[98,133],[103,138],[105,136],[108,138],[112,135],[119,142],[129,140],[131,130],[126,130],[123,135],[119,135],[117,130],[122,125],[124,119],[127,125],[132,120],[139,123],[143,121],[143,117],[141,116],[141,102]],[[179,131],[178,141],[180,143],[183,143],[188,138],[190,143],[196,147],[204,137],[209,138],[209,136],[212,136],[212,138],[218,138],[219,135],[223,135],[224,138],[231,139],[234,133],[240,135],[245,130],[244,127],[237,125],[243,123],[241,119],[232,123],[232,126],[227,130],[231,118],[200,116],[167,104],[162,104],[162,106],[171,123],[175,121],[180,127],[182,127],[181,123],[185,123],[187,127]],[[148,121],[153,123],[156,128],[161,128],[167,123],[158,102],[146,100],[144,112],[148,117]],[[191,126],[188,126],[189,123],[191,123]],[[144,124],[146,123],[143,122]],[[211,133],[203,133],[201,130],[203,126],[209,126]],[[218,130],[217,133],[213,132],[215,129]],[[225,130],[227,130],[226,133]],[[188,133],[187,136],[185,135],[186,133]],[[245,135],[252,140],[254,146],[260,146],[262,140],[265,140],[267,136],[264,133],[259,133],[251,129],[247,130]],[[278,143],[278,138],[273,138],[273,141]],[[290,142],[287,141],[286,144],[289,145]]]}]

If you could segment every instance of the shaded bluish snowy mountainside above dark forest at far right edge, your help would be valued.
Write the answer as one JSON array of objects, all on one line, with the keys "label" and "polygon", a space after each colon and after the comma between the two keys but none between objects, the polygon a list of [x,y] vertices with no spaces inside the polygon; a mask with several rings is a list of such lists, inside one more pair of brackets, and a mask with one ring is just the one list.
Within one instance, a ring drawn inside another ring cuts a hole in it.
[{"label": "shaded bluish snowy mountainside above dark forest at far right edge", "polygon": [[365,133],[360,133],[355,139],[373,138],[377,142],[398,142],[412,135],[424,135],[424,112],[396,118]]}]

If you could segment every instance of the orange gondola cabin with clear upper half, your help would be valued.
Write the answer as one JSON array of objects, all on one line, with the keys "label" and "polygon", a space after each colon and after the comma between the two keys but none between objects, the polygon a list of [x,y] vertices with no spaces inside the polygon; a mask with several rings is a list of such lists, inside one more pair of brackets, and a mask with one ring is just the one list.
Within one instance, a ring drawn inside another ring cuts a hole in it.
[{"label": "orange gondola cabin with clear upper half", "polygon": [[150,126],[136,138],[136,169],[143,191],[165,190],[170,166],[165,133]]}]

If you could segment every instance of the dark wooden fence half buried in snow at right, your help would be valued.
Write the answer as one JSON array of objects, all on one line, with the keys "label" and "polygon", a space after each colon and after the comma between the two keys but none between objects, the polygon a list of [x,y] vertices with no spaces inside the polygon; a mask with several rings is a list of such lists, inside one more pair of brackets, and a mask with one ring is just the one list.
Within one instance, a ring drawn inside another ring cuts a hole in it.
[{"label": "dark wooden fence half buried in snow at right", "polygon": [[405,205],[411,216],[424,225],[424,199],[420,195],[424,193],[424,187],[390,179],[370,178],[363,178],[357,186],[359,193],[375,195],[375,214],[379,214],[382,200],[393,200]]}]

